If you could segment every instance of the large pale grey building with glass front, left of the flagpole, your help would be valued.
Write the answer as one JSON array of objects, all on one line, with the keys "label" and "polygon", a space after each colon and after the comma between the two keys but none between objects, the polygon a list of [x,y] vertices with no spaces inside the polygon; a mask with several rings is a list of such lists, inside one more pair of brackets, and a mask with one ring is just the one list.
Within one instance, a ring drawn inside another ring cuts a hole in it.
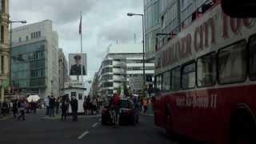
[{"label": "large pale grey building with glass front, left of the flagpole", "polygon": [[58,96],[58,34],[45,20],[13,29],[11,82],[23,94]]}]

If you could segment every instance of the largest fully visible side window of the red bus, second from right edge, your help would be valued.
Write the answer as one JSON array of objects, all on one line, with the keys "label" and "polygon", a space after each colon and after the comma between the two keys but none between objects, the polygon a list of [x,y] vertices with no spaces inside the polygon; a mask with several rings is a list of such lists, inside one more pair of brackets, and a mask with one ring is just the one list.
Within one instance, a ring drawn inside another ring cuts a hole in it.
[{"label": "largest fully visible side window of the red bus, second from right edge", "polygon": [[246,80],[246,41],[236,42],[218,52],[218,82],[228,84]]}]

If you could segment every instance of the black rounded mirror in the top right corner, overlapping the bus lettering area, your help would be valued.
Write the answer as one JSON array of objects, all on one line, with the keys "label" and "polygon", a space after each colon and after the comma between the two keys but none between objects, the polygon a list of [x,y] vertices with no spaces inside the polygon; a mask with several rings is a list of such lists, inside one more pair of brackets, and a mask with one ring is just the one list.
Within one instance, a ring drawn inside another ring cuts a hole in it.
[{"label": "black rounded mirror in the top right corner, overlapping the bus lettering area", "polygon": [[221,0],[222,10],[231,18],[256,18],[255,0]]}]

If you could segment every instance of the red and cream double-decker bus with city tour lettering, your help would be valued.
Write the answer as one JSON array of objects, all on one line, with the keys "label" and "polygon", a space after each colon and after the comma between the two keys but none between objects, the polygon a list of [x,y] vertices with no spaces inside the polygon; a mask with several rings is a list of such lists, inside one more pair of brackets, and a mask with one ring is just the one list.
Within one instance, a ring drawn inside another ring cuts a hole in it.
[{"label": "red and cream double-decker bus with city tour lettering", "polygon": [[[219,3],[158,48],[157,126],[209,143],[254,143],[256,20]],[[256,143],[256,142],[255,142]]]}]

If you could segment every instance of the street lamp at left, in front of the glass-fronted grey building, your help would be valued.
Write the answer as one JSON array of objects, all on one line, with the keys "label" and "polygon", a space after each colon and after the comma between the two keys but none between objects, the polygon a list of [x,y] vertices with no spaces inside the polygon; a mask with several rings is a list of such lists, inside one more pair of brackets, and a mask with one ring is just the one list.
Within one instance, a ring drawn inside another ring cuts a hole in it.
[{"label": "street lamp at left, in front of the glass-fronted grey building", "polygon": [[[9,20],[9,23],[10,23],[10,58],[9,58],[9,88],[12,86],[12,82],[11,82],[11,50],[12,50],[12,24],[13,23],[26,23],[25,20],[23,21],[12,21],[12,20]],[[9,92],[9,96],[10,96],[10,92]]]}]

